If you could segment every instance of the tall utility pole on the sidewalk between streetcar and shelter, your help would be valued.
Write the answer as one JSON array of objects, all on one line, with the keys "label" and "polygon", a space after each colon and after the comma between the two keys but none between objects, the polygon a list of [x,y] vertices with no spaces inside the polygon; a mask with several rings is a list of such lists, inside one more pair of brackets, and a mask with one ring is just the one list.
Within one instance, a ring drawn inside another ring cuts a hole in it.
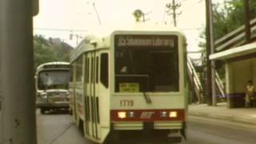
[{"label": "tall utility pole on the sidewalk between streetcar and shelter", "polygon": [[214,61],[210,62],[210,54],[214,54],[213,10],[211,0],[206,0],[206,78],[207,103],[216,105]]}]

